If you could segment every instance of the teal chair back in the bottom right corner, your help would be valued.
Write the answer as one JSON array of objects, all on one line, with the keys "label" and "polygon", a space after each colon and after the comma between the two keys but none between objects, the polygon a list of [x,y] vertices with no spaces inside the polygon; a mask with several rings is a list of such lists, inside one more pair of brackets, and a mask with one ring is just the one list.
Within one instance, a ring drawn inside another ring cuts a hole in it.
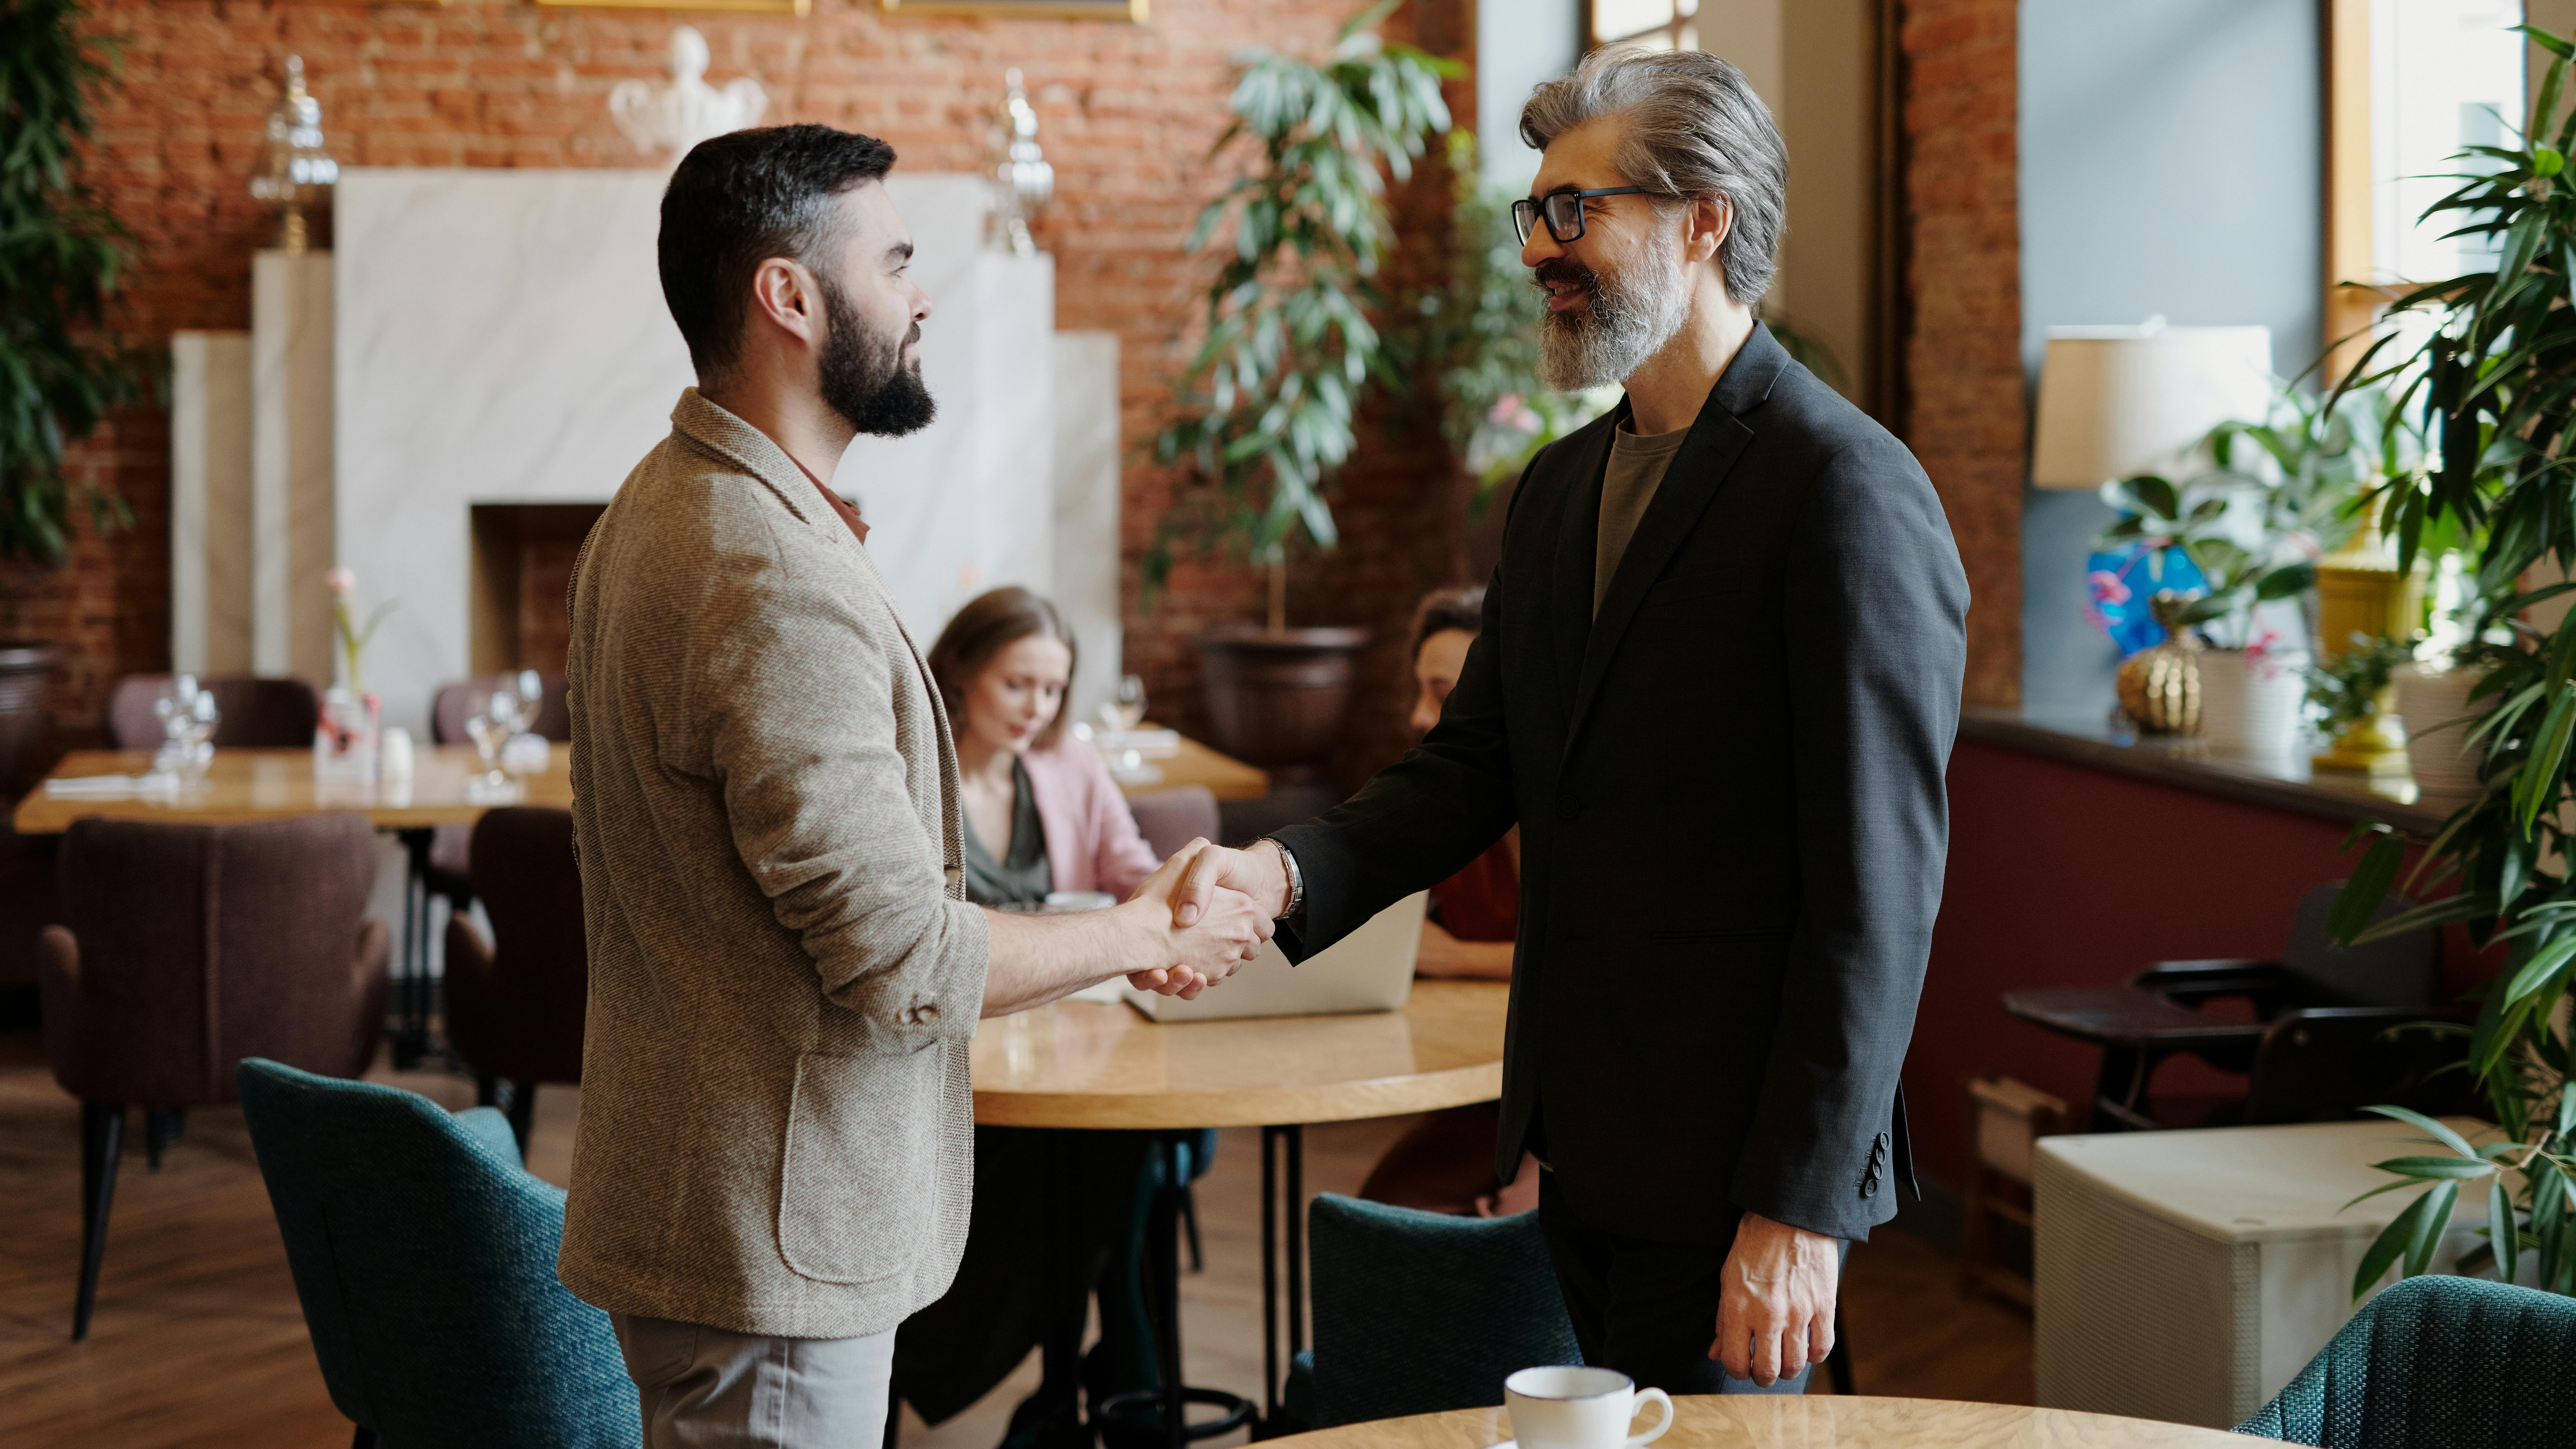
[{"label": "teal chair back in the bottom right corner", "polygon": [[2318,1449],[2576,1444],[2576,1302],[2486,1279],[2406,1279],[2239,1434]]}]

